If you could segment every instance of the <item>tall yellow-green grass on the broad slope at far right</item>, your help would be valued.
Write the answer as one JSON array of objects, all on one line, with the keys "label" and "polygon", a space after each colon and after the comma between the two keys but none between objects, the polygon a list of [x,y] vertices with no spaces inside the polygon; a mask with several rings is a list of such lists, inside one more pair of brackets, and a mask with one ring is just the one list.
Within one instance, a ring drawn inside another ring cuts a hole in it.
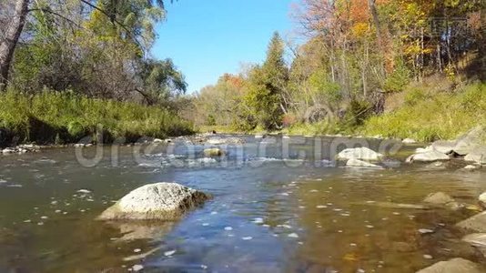
[{"label": "tall yellow-green grass on the broad slope at far right", "polygon": [[433,141],[453,139],[474,126],[486,125],[486,84],[465,86],[453,93],[430,94],[420,88],[406,92],[400,109],[372,116],[358,131]]}]

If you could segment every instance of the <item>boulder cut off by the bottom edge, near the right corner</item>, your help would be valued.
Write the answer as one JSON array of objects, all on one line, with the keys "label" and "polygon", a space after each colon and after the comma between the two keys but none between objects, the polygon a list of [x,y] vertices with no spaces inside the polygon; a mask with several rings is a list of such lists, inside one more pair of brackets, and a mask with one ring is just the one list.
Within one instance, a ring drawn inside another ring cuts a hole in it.
[{"label": "boulder cut off by the bottom edge, near the right corner", "polygon": [[423,268],[417,273],[481,273],[484,268],[464,258],[451,258],[448,261],[440,261]]}]

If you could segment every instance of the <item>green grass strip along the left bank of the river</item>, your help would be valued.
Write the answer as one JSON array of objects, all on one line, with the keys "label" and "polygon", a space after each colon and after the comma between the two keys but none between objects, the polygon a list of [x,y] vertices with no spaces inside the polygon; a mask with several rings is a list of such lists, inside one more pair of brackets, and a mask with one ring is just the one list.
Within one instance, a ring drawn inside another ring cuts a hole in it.
[{"label": "green grass strip along the left bank of the river", "polygon": [[192,125],[156,106],[76,96],[45,90],[34,96],[14,90],[0,94],[0,144],[76,142],[103,128],[104,141],[125,137],[192,134]]}]

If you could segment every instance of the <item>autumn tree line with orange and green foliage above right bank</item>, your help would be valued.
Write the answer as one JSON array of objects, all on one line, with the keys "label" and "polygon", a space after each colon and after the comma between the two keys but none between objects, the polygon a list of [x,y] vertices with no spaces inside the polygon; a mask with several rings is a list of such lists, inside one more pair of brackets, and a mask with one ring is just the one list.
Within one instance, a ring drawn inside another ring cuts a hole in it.
[{"label": "autumn tree line with orange and green foliage above right bank", "polygon": [[198,125],[279,129],[322,120],[359,126],[385,98],[432,75],[486,78],[481,0],[302,0],[295,45],[275,33],[263,64],[192,97]]}]

